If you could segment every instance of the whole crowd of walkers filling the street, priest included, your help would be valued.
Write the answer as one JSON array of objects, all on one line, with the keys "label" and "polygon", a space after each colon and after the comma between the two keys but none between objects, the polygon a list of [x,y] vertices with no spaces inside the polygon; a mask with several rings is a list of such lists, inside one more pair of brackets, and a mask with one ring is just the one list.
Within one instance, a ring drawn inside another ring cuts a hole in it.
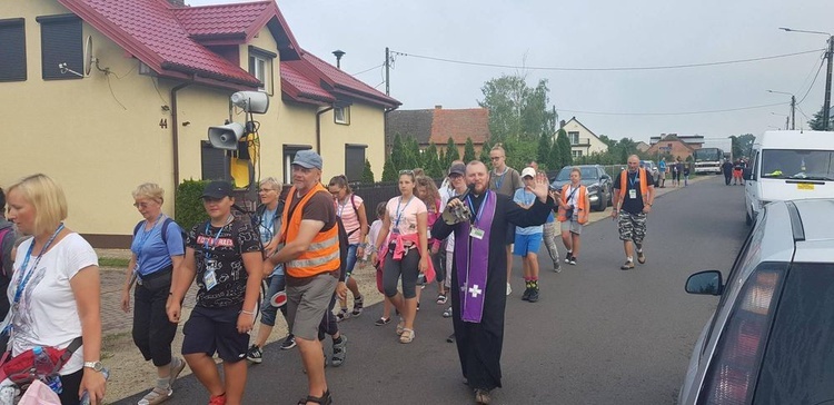
[{"label": "whole crowd of walkers filling the street, priest included", "polygon": [[[332,403],[325,367],[346,360],[348,337],[339,322],[364,312],[365,297],[353,274],[359,260],[376,268],[376,286],[385,297],[375,325],[396,320],[401,344],[417,338],[421,289],[437,285],[435,303],[453,319],[449,342],[457,343],[464,381],[476,402],[488,404],[492,389],[502,386],[513,256],[523,263],[522,299],[538,302],[540,245],[554,271],[562,270],[563,260],[576,266],[590,209],[578,168],[568,184],[554,189],[535,161],[519,172],[506,165],[500,145],[489,156],[492,169],[479,161],[454,161],[439,188],[420,169],[401,170],[398,195],[375,207],[370,225],[365,201],[345,176],[321,182],[321,157],[310,150],[296,154],[285,199],[275,178],[259,182],[254,215],[237,207],[229,182],[209,182],[200,197],[209,219],[190,229],[162,213],[162,188],[138,186],[132,198],[141,220],[132,230],[121,307],[132,309],[133,342],[156,377],[139,404],[169,399],[186,365],[208,392],[210,405],[240,404],[247,362],[262,362],[278,312],[289,330],[280,348],[298,347],[307,375],[308,391],[298,404]],[[629,157],[628,169],[614,181],[612,216],[624,241],[624,270],[634,268],[635,253],[638,263],[646,260],[643,238],[654,181],[638,165],[636,156]],[[101,403],[107,371],[100,362],[97,256],[63,226],[66,198],[49,177],[24,178],[8,191],[7,201],[0,190],[0,205],[8,202],[14,226],[0,216],[0,264],[3,275],[11,275],[0,277],[9,292],[0,315],[6,317],[9,363],[26,363],[26,356],[34,358],[43,347],[56,356],[51,373],[28,382],[3,365],[0,394],[3,387],[17,389],[38,379],[50,383],[56,403],[78,404],[85,395]],[[460,211],[468,216],[461,219]],[[195,281],[196,303],[182,319],[185,296]],[[259,297],[261,283],[266,294]],[[180,320],[183,342],[177,354],[171,343]],[[329,356],[321,344],[327,336],[332,339]],[[222,360],[222,376],[215,356]]]}]

